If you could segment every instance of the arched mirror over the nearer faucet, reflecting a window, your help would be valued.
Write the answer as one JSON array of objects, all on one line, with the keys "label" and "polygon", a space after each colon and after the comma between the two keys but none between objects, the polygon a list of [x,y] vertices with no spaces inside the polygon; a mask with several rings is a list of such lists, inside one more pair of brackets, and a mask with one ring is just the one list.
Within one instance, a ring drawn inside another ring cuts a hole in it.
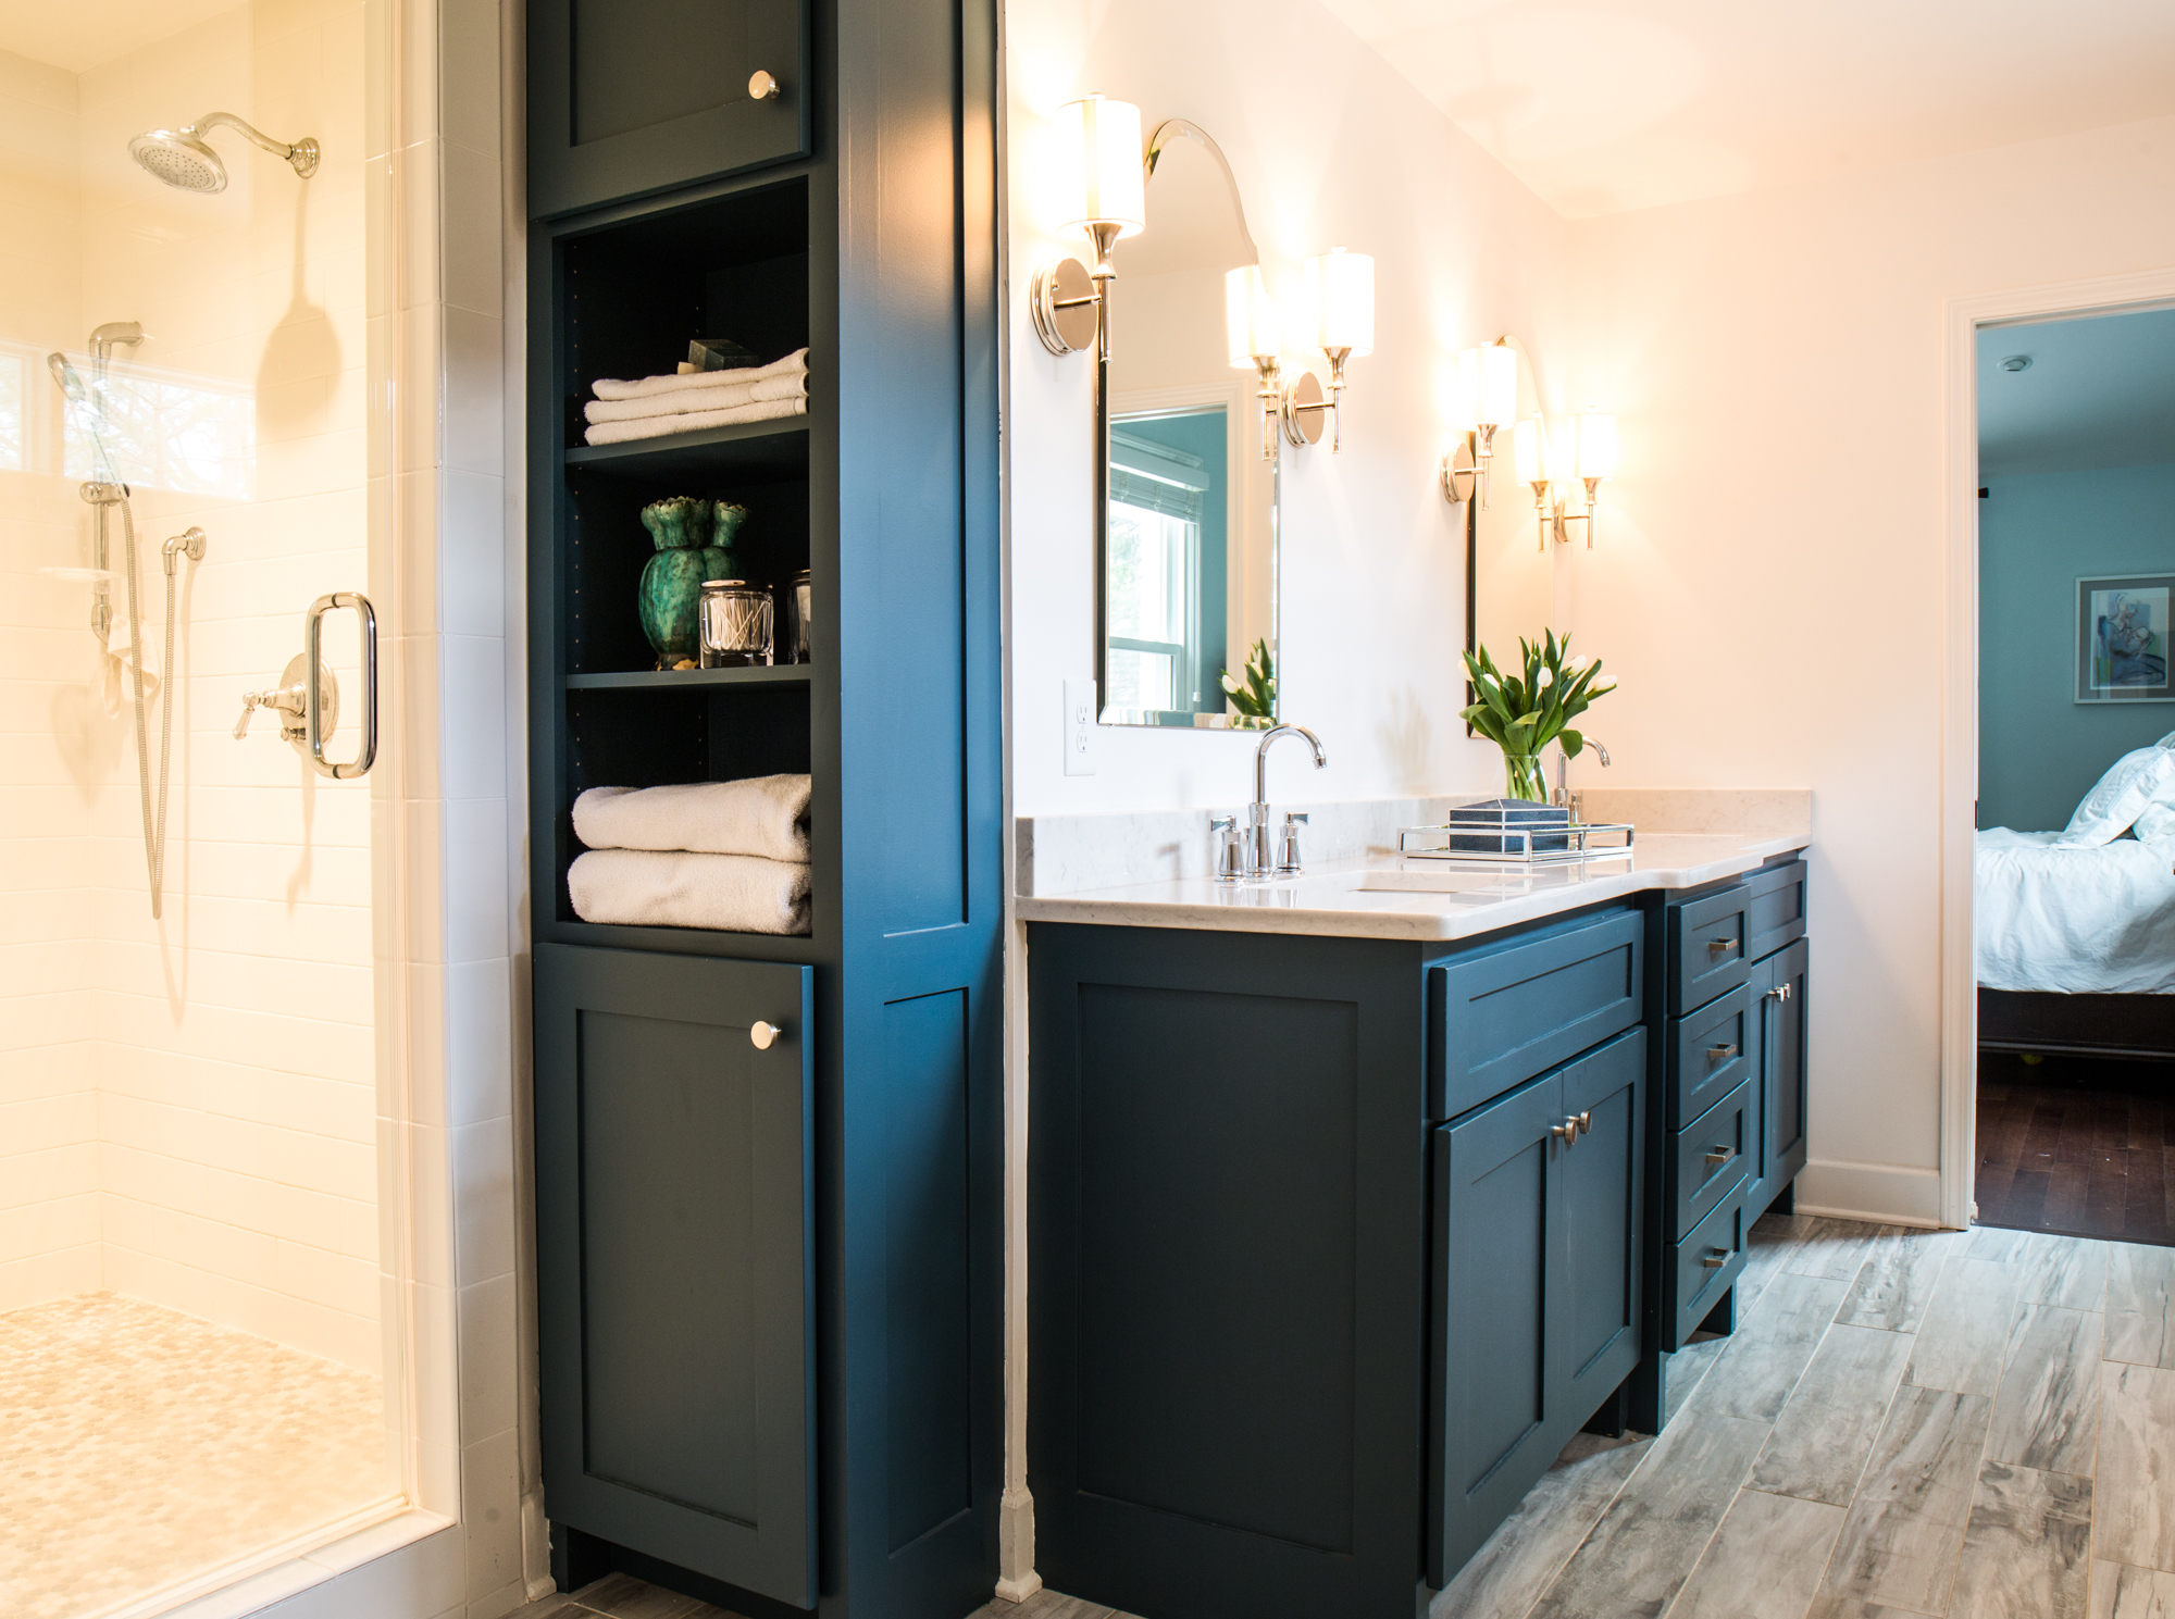
[{"label": "arched mirror over the nearer faucet, reflecting a window", "polygon": [[[1257,263],[1222,150],[1183,120],[1148,139],[1148,224],[1118,250],[1096,435],[1103,725],[1229,729],[1229,672],[1277,672],[1277,461],[1257,374],[1229,363],[1225,272]],[[1275,705],[1270,703],[1270,709]]]}]

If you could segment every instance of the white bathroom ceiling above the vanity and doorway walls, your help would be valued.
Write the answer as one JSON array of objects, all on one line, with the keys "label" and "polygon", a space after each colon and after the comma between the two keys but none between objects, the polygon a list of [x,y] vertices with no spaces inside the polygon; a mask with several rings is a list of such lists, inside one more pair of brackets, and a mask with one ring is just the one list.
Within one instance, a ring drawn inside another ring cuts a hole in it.
[{"label": "white bathroom ceiling above the vanity and doorway walls", "polygon": [[1322,0],[1568,218],[2175,113],[2171,0]]}]

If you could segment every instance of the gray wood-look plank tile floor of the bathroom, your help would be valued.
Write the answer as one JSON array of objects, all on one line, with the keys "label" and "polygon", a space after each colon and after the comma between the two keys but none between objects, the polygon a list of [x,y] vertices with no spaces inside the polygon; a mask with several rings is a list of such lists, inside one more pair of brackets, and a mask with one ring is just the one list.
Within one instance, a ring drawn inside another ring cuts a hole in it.
[{"label": "gray wood-look plank tile floor of the bathroom", "polygon": [[[1429,1619],[2175,1619],[2175,1249],[1770,1214],[1673,1375],[1662,1438],[1566,1447]],[[529,1617],[722,1615],[644,1593]]]}]

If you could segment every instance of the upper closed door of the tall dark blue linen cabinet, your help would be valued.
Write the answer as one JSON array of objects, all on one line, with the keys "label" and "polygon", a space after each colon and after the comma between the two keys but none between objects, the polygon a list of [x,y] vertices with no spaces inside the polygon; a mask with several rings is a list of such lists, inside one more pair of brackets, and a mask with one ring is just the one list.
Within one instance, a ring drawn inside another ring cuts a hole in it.
[{"label": "upper closed door of the tall dark blue linen cabinet", "polygon": [[811,102],[807,0],[533,0],[529,211],[807,157]]}]

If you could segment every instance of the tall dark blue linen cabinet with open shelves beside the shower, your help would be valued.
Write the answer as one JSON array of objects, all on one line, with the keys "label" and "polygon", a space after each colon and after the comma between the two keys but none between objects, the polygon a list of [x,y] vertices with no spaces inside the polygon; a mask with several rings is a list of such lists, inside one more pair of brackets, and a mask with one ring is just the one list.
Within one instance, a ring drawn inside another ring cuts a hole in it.
[{"label": "tall dark blue linen cabinet with open shelves beside the shower", "polygon": [[[552,1573],[959,1619],[1005,1425],[994,7],[537,0],[529,72]],[[594,379],[696,337],[805,346],[807,413],[585,444]],[[655,670],[639,514],[681,494],[748,507],[750,581],[807,570],[809,662]],[[574,914],[581,790],[781,770],[809,934]]]}]

